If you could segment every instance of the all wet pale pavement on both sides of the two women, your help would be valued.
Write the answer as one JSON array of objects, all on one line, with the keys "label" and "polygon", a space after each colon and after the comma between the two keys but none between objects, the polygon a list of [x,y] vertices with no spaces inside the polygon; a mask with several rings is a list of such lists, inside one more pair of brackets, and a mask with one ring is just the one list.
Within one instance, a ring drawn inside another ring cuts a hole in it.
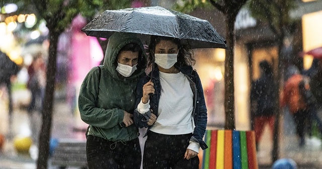
[{"label": "all wet pale pavement on both sides of the two women", "polygon": [[[13,123],[9,126],[8,112],[6,110],[7,100],[5,95],[0,95],[0,133],[6,136],[6,142],[0,151],[0,168],[36,168],[37,137],[38,129],[41,127],[41,116],[35,112],[30,117],[24,109],[24,99],[28,98],[26,91],[14,93],[14,114]],[[320,112],[321,113],[321,112]],[[293,159],[298,168],[322,168],[322,145],[321,139],[317,137],[307,138],[303,147],[298,146],[297,137],[294,132],[293,122],[288,114],[283,115],[281,121],[280,135],[280,158]],[[32,125],[31,125],[32,124]],[[79,115],[73,114],[69,105],[63,99],[55,99],[52,138],[85,140],[84,129],[87,127]],[[13,140],[18,135],[32,135],[34,144],[29,154],[16,152]],[[273,147],[268,127],[265,128],[262,141],[259,144],[257,153],[259,168],[271,168],[271,149]],[[49,160],[48,168],[54,169]],[[77,167],[67,167],[77,168]]]}]

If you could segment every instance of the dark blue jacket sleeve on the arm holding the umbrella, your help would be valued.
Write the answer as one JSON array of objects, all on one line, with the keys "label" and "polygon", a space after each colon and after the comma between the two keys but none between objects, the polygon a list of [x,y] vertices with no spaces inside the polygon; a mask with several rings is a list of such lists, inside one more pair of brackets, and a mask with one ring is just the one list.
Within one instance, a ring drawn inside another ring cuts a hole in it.
[{"label": "dark blue jacket sleeve on the arm holding the umbrella", "polygon": [[146,77],[140,78],[139,82],[137,83],[136,86],[136,103],[135,103],[135,110],[133,114],[133,119],[134,119],[134,124],[139,127],[148,127],[147,121],[150,118],[151,112],[148,111],[144,114],[141,114],[137,110],[137,105],[140,103],[141,98],[143,96],[143,85],[147,82]]}]

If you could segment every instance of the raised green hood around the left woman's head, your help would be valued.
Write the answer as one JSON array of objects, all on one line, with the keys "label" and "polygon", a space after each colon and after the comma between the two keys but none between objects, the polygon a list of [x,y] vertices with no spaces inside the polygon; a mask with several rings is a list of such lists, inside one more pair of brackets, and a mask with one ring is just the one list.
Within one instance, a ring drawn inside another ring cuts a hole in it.
[{"label": "raised green hood around the left woman's head", "polygon": [[119,51],[126,44],[129,44],[129,43],[138,44],[140,46],[141,50],[139,51],[137,69],[134,71],[134,73],[131,76],[124,77],[124,78],[132,79],[132,78],[139,76],[141,73],[144,72],[144,69],[146,66],[146,55],[145,55],[141,40],[139,38],[137,38],[135,34],[116,32],[108,40],[109,40],[109,42],[107,44],[103,64],[104,64],[104,67],[107,68],[108,72],[114,78],[120,78],[118,76],[118,72],[116,71],[117,55],[118,55]]}]

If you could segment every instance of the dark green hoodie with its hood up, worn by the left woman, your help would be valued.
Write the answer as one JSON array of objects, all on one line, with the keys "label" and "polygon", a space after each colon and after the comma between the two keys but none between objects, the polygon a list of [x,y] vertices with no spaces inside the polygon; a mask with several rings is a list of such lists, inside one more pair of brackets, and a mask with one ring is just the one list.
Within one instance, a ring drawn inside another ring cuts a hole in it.
[{"label": "dark green hoodie with its hood up, worn by the left woman", "polygon": [[[137,69],[129,77],[116,71],[117,54],[128,43],[141,46]],[[78,97],[78,108],[82,120],[90,125],[89,135],[109,141],[129,141],[138,137],[138,128],[134,123],[121,127],[124,111],[133,113],[135,106],[135,88],[146,66],[146,56],[141,41],[130,33],[114,33],[106,49],[104,63],[93,67],[86,75]]]}]

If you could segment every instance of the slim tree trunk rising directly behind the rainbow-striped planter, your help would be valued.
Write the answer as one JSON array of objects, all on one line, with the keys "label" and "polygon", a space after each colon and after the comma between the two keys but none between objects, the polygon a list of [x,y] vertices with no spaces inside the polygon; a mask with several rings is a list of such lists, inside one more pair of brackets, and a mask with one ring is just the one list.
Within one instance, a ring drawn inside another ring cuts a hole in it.
[{"label": "slim tree trunk rising directly behind the rainbow-striped planter", "polygon": [[235,129],[235,116],[234,116],[234,80],[233,80],[233,56],[234,56],[234,43],[235,31],[234,23],[236,15],[233,13],[226,14],[226,42],[228,50],[226,50],[225,59],[225,129]]}]

